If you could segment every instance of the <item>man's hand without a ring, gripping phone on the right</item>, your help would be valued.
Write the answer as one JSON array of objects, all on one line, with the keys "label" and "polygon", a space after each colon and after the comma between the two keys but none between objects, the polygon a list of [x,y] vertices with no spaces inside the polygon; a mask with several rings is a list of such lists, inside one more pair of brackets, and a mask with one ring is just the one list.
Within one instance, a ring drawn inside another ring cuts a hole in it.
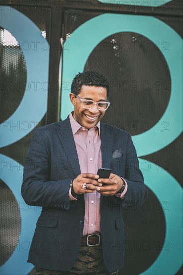
[{"label": "man's hand without a ring, gripping phone on the right", "polygon": [[99,183],[106,184],[98,191],[101,195],[114,195],[122,188],[124,181],[116,174],[110,174],[109,178],[99,178]]}]

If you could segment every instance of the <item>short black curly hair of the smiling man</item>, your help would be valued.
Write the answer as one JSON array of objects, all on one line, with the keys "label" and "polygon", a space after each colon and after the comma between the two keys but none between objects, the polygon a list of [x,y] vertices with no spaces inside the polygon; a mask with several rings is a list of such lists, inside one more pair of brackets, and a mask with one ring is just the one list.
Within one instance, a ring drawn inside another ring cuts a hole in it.
[{"label": "short black curly hair of the smiling man", "polygon": [[72,81],[71,92],[78,95],[81,91],[82,85],[106,88],[108,98],[109,82],[102,74],[96,71],[84,71],[77,73]]}]

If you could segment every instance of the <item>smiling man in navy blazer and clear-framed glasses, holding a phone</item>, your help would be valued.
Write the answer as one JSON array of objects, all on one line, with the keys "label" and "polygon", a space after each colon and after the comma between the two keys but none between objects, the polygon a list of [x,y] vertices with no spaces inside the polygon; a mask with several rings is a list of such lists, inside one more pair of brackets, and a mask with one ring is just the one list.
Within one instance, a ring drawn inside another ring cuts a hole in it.
[{"label": "smiling man in navy blazer and clear-framed glasses, holding a phone", "polygon": [[[117,274],[124,260],[121,207],[141,205],[147,190],[129,133],[100,122],[109,84],[78,73],[66,120],[36,129],[22,196],[42,206],[28,262],[40,274]],[[98,168],[112,169],[99,178]]]}]

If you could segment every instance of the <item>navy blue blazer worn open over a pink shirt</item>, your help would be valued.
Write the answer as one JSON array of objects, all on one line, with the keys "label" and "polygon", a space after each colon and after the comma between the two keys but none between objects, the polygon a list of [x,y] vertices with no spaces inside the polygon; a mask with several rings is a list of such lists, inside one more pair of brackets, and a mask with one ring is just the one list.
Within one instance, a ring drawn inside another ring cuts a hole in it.
[{"label": "navy blue blazer worn open over a pink shirt", "polygon": [[[141,205],[147,188],[130,134],[100,123],[102,167],[111,167],[112,173],[125,178],[128,184],[124,200],[101,195],[102,252],[105,266],[112,272],[124,261],[121,207]],[[112,158],[116,150],[122,153]],[[28,257],[35,266],[66,271],[75,262],[85,205],[84,195],[79,195],[77,201],[69,200],[69,188],[80,173],[69,117],[34,130],[25,160],[22,196],[28,205],[42,206]]]}]

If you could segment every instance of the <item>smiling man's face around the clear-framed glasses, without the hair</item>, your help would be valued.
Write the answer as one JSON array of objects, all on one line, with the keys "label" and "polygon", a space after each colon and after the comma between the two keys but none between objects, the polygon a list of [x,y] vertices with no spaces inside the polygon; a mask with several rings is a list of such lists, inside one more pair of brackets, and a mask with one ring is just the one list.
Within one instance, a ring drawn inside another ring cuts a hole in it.
[{"label": "smiling man's face around the clear-framed glasses, without the hair", "polygon": [[[78,96],[82,99],[89,99],[95,102],[107,100],[107,89],[103,87],[83,85]],[[83,108],[79,98],[75,98],[70,94],[70,100],[74,105],[74,119],[83,127],[91,129],[101,120],[105,111],[99,111],[97,105],[94,104],[92,109]]]}]

